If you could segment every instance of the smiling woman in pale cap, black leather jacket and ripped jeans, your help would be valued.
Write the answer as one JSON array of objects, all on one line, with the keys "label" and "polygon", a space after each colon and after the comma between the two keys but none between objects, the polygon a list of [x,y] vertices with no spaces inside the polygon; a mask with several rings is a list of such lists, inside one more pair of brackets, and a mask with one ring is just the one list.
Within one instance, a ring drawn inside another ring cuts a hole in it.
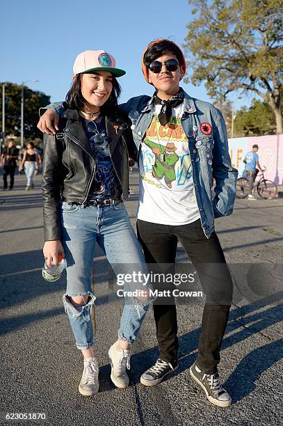
[{"label": "smiling woman in pale cap, black leather jacket and ripped jeans", "polygon": [[[84,356],[79,384],[82,395],[94,395],[99,388],[91,321],[96,242],[115,273],[130,272],[129,264],[146,271],[143,251],[122,203],[129,194],[128,158],[136,158],[131,129],[117,107],[120,85],[116,78],[124,74],[107,52],[79,54],[66,97],[67,109],[56,134],[45,135],[43,253],[49,266],[56,265],[60,255],[67,260],[63,303],[76,347]],[[126,298],[118,341],[108,352],[111,380],[119,388],[129,384],[129,347],[149,305],[148,288],[143,283],[140,287],[141,297]]]}]

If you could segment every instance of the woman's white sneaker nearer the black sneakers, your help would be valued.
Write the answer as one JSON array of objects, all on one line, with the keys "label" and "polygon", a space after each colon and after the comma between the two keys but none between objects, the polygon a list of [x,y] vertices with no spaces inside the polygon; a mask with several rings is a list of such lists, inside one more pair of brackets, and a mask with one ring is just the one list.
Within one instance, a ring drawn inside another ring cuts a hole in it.
[{"label": "woman's white sneaker nearer the black sneakers", "polygon": [[131,368],[130,351],[122,349],[118,342],[113,343],[108,351],[111,361],[111,380],[118,388],[124,389],[129,385],[129,376],[126,370]]}]

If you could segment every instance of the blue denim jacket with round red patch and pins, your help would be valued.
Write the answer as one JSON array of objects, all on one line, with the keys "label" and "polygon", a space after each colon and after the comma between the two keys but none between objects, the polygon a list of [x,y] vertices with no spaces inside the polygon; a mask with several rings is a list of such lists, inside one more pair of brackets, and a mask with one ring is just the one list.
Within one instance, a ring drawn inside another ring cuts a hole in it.
[{"label": "blue denim jacket with round red patch and pins", "polygon": [[[59,115],[63,112],[61,102],[45,108],[51,108]],[[134,142],[139,151],[152,121],[153,97],[131,97],[127,103],[120,105],[120,109],[131,119]],[[225,120],[216,107],[185,92],[181,126],[188,140],[202,228],[209,238],[214,230],[214,219],[229,216],[233,212],[238,171],[232,167]],[[214,197],[211,191],[212,178],[216,183]]]}]

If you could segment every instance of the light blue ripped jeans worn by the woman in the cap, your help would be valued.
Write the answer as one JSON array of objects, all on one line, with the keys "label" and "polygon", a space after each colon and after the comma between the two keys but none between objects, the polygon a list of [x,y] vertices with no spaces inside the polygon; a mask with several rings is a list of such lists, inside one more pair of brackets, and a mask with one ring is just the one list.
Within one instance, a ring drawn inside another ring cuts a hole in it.
[{"label": "light blue ripped jeans worn by the woman in the cap", "polygon": [[[67,260],[67,291],[63,296],[63,303],[76,347],[88,349],[93,345],[91,313],[95,295],[91,289],[91,274],[95,244],[102,248],[115,274],[131,273],[130,264],[135,264],[135,267],[138,265],[139,270],[147,274],[147,267],[123,203],[115,203],[110,207],[86,207],[63,202],[60,217],[61,242]],[[75,308],[69,298],[85,294],[89,295],[86,306]],[[133,343],[150,302],[140,301],[135,297],[126,301],[118,338]]]}]

